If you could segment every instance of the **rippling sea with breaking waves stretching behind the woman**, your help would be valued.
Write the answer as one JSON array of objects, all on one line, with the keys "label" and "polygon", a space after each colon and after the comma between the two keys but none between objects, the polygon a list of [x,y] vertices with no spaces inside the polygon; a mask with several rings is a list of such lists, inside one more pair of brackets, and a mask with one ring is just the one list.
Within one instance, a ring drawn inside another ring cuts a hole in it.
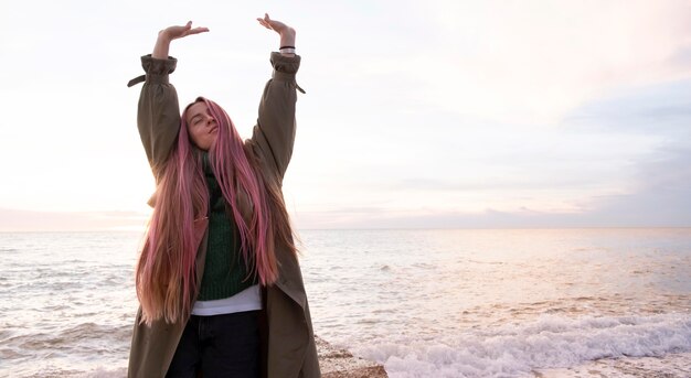
[{"label": "rippling sea with breaking waves stretching behind the woman", "polygon": [[[691,228],[299,235],[315,333],[390,377],[691,377]],[[141,239],[0,234],[0,377],[125,377]]]}]

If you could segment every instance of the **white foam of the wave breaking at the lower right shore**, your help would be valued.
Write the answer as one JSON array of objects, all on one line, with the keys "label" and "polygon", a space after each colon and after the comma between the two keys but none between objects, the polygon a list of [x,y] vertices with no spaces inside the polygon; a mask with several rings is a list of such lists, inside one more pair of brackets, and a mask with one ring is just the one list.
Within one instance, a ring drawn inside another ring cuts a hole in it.
[{"label": "white foam of the wave breaking at the lower right shore", "polygon": [[517,377],[598,358],[691,352],[691,315],[568,318],[468,331],[435,342],[398,339],[357,352],[384,364],[392,378]]}]

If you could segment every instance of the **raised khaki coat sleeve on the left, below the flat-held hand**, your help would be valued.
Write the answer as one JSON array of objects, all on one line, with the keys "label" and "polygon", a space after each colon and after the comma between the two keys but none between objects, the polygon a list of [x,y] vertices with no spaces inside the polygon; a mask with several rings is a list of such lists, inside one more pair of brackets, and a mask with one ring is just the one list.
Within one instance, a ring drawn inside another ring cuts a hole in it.
[{"label": "raised khaki coat sleeve on the left, below the flat-held hand", "polygon": [[146,82],[139,96],[137,127],[157,182],[180,130],[178,93],[168,80],[177,63],[173,57],[141,57]]}]

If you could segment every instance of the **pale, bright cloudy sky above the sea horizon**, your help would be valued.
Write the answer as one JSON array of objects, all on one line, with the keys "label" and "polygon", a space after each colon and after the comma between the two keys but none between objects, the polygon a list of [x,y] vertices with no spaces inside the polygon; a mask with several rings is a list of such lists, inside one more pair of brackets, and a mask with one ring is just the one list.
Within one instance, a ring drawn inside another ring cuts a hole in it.
[{"label": "pale, bright cloudy sky above the sea horizon", "polygon": [[298,228],[691,226],[691,1],[0,3],[0,230],[143,229],[139,56],[249,137],[278,36],[302,57]]}]

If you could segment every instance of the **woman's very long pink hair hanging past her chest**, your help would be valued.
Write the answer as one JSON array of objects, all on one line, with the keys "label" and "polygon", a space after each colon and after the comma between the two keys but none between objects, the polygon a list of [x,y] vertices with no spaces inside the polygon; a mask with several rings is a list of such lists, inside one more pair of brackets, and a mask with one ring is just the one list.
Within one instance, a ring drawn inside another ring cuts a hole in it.
[{"label": "woman's very long pink hair hanging past her chest", "polygon": [[[297,251],[280,184],[265,180],[252,147],[243,143],[225,110],[203,97],[192,104],[199,101],[206,104],[219,125],[209,160],[238,229],[247,271],[263,285],[272,284],[278,278],[277,239]],[[202,235],[194,225],[206,217],[209,190],[202,153],[189,137],[185,116],[190,106],[182,114],[177,145],[162,168],[137,264],[137,296],[147,324],[161,317],[169,323],[183,321],[196,293],[195,259]]]}]

